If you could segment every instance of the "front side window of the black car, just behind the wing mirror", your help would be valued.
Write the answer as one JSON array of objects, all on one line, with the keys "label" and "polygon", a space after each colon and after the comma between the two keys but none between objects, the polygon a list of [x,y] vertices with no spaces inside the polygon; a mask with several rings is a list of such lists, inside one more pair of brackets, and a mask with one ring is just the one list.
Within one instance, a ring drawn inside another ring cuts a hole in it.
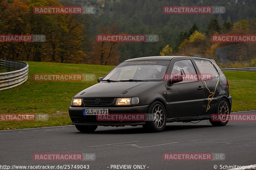
[{"label": "front side window of the black car, just behind the wing mirror", "polygon": [[198,81],[196,70],[191,60],[176,61],[172,67],[171,76],[173,75],[182,75],[183,81],[181,82]]}]

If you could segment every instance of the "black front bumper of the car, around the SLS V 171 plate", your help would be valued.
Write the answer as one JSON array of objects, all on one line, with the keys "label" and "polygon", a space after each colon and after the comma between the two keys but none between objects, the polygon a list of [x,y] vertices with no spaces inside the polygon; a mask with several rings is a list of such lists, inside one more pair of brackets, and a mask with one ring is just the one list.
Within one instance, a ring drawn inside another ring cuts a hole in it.
[{"label": "black front bumper of the car, around the SLS V 171 plate", "polygon": [[[108,108],[108,114],[124,114],[124,113],[147,113],[149,105],[143,106],[121,106],[121,107],[106,107],[98,106],[97,108]],[[87,107],[96,108],[96,107]],[[84,107],[69,107],[68,113],[73,125],[98,125],[98,126],[125,126],[125,125],[143,125],[145,122],[140,121],[97,121],[96,115],[84,116]]]}]

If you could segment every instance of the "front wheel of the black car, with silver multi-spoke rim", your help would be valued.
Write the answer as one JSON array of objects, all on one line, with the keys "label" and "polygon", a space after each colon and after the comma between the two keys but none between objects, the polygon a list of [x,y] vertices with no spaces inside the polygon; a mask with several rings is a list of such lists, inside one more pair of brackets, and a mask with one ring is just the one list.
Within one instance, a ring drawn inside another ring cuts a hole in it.
[{"label": "front wheel of the black car, with silver multi-spoke rim", "polygon": [[152,121],[146,121],[143,128],[149,132],[163,131],[167,120],[164,105],[159,101],[155,101],[150,104],[148,113],[150,115],[149,118],[152,119]]}]

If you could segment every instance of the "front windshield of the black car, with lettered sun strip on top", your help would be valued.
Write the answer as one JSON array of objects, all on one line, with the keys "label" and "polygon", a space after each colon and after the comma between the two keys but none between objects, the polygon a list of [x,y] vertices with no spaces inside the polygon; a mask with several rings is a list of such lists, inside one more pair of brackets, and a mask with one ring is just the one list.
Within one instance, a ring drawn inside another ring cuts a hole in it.
[{"label": "front windshield of the black car, with lettered sun strip on top", "polygon": [[126,61],[109,72],[103,81],[161,81],[169,60]]}]

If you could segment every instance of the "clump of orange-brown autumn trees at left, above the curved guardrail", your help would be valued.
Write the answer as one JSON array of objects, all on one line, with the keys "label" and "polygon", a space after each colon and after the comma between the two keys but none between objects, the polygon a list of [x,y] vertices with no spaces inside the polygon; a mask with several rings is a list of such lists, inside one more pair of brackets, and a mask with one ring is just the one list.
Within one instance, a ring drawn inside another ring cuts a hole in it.
[{"label": "clump of orange-brown autumn trees at left, above the curved guardrail", "polygon": [[[35,6],[62,6],[56,0],[0,0],[0,34],[44,34],[45,42],[0,42],[0,58],[48,62],[85,62],[80,16],[34,14]],[[86,31],[85,31],[86,32]]]}]

